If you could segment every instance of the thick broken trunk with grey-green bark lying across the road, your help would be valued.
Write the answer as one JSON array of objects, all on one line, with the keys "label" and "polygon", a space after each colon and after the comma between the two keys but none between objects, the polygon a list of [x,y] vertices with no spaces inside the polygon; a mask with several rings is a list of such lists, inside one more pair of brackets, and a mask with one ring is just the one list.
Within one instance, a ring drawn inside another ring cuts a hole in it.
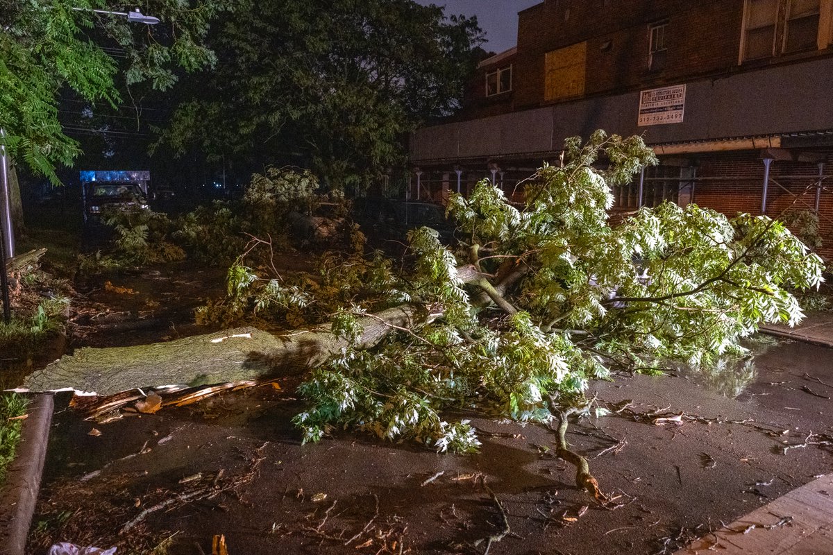
[{"label": "thick broken trunk with grey-green bark lying across the road", "polygon": [[[412,328],[438,315],[415,305],[382,310],[359,319],[364,329],[359,345],[369,348],[395,328]],[[182,384],[225,384],[299,374],[348,346],[329,325],[286,334],[255,328],[223,330],[167,343],[77,349],[23,383],[30,391],[74,389],[112,395],[135,388]]]}]

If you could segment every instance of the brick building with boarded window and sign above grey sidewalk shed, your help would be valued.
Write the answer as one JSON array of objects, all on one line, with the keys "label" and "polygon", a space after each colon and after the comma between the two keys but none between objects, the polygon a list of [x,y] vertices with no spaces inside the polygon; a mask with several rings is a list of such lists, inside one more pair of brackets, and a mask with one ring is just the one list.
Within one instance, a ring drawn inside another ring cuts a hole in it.
[{"label": "brick building with boarded window and sign above grey sidewalk shed", "polygon": [[453,121],[412,136],[410,194],[511,194],[564,139],[639,134],[661,165],[616,211],[816,211],[833,255],[833,0],[545,0],[481,62]]}]

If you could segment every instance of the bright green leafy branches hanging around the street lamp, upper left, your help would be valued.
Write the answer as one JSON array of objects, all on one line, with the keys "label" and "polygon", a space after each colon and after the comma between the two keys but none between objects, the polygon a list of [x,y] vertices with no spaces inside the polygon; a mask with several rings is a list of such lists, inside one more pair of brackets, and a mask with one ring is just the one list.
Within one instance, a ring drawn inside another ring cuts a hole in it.
[{"label": "bright green leafy branches hanging around the street lamp, upper left", "polygon": [[58,95],[69,89],[115,105],[119,72],[127,86],[172,87],[175,67],[194,71],[216,61],[201,41],[212,17],[229,7],[223,0],[147,0],[143,13],[161,20],[147,26],[92,12],[130,9],[104,0],[0,0],[0,128],[11,156],[57,183],[55,166],[79,154],[62,130]]}]

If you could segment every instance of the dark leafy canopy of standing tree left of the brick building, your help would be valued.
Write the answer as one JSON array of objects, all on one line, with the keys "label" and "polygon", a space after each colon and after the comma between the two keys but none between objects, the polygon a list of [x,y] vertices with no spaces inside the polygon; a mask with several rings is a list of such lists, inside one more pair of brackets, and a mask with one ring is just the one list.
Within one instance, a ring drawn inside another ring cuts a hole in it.
[{"label": "dark leafy canopy of standing tree left of the brick building", "polygon": [[481,37],[476,19],[411,0],[249,2],[212,32],[217,71],[195,80],[161,144],[355,185],[457,107]]}]

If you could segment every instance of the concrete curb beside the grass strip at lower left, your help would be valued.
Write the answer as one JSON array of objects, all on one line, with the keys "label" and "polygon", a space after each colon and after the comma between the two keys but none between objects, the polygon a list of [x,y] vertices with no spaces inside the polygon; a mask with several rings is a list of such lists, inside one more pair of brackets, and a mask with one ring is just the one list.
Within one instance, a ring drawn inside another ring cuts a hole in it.
[{"label": "concrete curb beside the grass strip at lower left", "polygon": [[29,405],[22,440],[0,488],[0,555],[23,555],[41,486],[52,424],[52,394],[40,394]]}]

